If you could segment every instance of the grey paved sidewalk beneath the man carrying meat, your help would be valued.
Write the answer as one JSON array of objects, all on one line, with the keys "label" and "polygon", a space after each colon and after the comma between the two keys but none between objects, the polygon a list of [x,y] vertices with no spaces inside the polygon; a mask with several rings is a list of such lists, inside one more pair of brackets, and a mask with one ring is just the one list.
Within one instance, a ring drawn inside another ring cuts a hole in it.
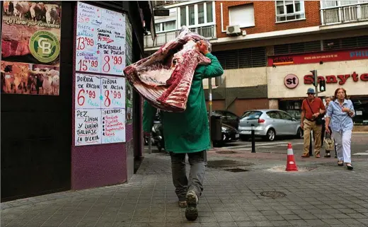
[{"label": "grey paved sidewalk beneath the man carrying meat", "polygon": [[[146,153],[126,184],[2,203],[1,226],[368,226],[367,160],[354,171],[297,162],[298,172],[284,171],[286,159],[208,161],[194,222],[178,207],[169,156]],[[226,170],[236,167],[246,171]]]}]

